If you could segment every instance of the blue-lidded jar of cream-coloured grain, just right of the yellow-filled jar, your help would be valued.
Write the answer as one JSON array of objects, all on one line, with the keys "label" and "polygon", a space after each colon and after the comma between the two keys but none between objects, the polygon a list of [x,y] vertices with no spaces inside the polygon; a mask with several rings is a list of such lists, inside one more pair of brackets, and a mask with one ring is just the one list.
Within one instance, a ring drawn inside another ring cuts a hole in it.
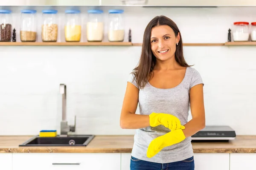
[{"label": "blue-lidded jar of cream-coloured grain, just right of the yellow-filled jar", "polygon": [[104,37],[104,22],[102,10],[89,10],[87,22],[87,41],[102,42]]}]

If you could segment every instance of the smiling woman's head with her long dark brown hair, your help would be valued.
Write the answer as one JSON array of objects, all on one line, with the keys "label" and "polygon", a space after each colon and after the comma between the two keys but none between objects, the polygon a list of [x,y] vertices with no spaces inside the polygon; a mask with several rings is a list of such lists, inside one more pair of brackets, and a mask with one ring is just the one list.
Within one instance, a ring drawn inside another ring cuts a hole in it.
[{"label": "smiling woman's head with her long dark brown hair", "polygon": [[153,77],[151,74],[154,74],[157,62],[163,63],[172,58],[181,67],[191,66],[184,59],[182,38],[177,25],[168,17],[157,16],[145,28],[140,63],[134,69],[139,87],[143,88],[148,77]]}]

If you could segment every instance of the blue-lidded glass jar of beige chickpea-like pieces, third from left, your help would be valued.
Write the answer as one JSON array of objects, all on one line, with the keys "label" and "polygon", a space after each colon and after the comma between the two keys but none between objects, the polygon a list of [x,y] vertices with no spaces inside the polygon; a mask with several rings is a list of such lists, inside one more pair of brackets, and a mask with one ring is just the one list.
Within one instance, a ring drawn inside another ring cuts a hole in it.
[{"label": "blue-lidded glass jar of beige chickpea-like pieces, third from left", "polygon": [[58,37],[57,10],[42,11],[42,32],[43,42],[56,42]]}]

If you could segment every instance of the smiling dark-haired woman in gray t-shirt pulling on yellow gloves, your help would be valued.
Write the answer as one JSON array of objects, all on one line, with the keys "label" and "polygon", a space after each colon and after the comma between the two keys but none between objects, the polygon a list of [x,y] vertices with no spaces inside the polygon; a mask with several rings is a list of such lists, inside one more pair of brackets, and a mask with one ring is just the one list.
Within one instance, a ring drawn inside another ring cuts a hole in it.
[{"label": "smiling dark-haired woman in gray t-shirt pulling on yellow gloves", "polygon": [[[145,28],[140,62],[128,79],[120,116],[123,129],[137,129],[131,170],[194,170],[191,136],[205,127],[203,86],[183,57],[176,24],[154,17]],[[138,102],[140,114],[135,114]]]}]

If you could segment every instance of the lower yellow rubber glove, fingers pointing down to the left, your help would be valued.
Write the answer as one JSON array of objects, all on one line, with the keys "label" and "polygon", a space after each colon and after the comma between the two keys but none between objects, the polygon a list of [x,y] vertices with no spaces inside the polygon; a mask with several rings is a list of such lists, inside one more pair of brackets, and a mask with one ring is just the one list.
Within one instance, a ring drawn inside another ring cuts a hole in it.
[{"label": "lower yellow rubber glove, fingers pointing down to the left", "polygon": [[164,147],[177,144],[183,141],[185,138],[186,137],[181,129],[173,130],[163,136],[159,136],[156,139],[153,139],[148,145],[147,157],[152,158]]}]

